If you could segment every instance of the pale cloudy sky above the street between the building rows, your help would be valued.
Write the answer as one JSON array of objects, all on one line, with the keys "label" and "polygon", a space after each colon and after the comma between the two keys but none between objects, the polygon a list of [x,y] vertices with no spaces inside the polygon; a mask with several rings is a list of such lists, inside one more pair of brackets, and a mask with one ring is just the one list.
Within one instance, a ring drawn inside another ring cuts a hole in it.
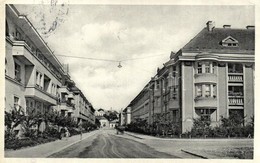
[{"label": "pale cloudy sky above the street between the building rows", "polygon": [[[127,107],[158,67],[212,20],[254,25],[253,6],[15,5],[32,22],[93,107]],[[122,61],[98,61],[65,56]]]}]

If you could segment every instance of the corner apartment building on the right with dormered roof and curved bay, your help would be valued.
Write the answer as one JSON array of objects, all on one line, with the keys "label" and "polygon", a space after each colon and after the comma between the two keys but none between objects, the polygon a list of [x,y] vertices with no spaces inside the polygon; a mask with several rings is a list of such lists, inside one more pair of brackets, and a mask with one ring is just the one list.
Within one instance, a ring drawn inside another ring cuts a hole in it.
[{"label": "corner apartment building on the right with dormered roof and curved bay", "polygon": [[181,132],[198,117],[216,125],[221,117],[238,114],[247,123],[254,116],[254,44],[254,26],[215,28],[209,21],[158,70],[150,110],[178,123]]}]

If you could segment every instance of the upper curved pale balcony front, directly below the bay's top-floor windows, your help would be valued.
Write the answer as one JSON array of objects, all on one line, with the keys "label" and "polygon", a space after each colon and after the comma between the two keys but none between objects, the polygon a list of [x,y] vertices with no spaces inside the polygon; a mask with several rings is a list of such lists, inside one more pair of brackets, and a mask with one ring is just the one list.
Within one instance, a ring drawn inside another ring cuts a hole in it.
[{"label": "upper curved pale balcony front, directly below the bay's top-floor windows", "polygon": [[195,74],[195,83],[217,83],[217,75],[213,73]]}]

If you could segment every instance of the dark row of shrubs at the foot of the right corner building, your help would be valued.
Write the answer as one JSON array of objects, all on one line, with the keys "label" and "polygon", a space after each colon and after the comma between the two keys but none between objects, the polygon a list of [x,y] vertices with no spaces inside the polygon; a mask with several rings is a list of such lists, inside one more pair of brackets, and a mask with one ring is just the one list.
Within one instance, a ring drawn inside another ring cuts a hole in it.
[{"label": "dark row of shrubs at the foot of the right corner building", "polygon": [[253,138],[254,117],[251,117],[251,122],[246,125],[244,119],[245,117],[240,117],[239,114],[230,115],[228,118],[221,117],[220,124],[213,127],[211,119],[200,117],[193,119],[191,131],[181,133],[180,123],[169,121],[161,114],[151,125],[147,120],[137,118],[126,126],[126,131],[174,138]]}]

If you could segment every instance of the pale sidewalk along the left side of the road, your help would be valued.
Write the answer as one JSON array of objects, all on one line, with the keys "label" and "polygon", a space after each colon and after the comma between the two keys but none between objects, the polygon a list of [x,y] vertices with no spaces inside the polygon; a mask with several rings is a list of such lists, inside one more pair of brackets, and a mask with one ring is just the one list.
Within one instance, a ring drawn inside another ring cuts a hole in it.
[{"label": "pale sidewalk along the left side of the road", "polygon": [[[82,140],[95,135],[97,132],[98,130],[84,133],[82,135]],[[80,141],[80,135],[74,135],[68,139],[63,138],[62,140],[56,140],[54,142],[40,144],[34,147],[27,147],[19,150],[6,150],[5,157],[45,158]]]}]

